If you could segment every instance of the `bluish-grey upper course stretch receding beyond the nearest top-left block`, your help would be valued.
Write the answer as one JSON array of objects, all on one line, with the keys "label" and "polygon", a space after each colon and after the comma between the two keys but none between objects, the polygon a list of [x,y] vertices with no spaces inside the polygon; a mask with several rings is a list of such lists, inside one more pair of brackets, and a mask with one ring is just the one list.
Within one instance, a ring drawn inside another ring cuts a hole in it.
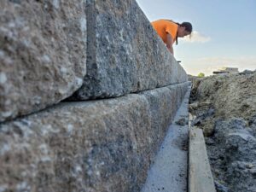
[{"label": "bluish-grey upper course stretch receding beyond the nearest top-left block", "polygon": [[73,99],[122,96],[187,81],[135,0],[88,0],[87,73]]}]

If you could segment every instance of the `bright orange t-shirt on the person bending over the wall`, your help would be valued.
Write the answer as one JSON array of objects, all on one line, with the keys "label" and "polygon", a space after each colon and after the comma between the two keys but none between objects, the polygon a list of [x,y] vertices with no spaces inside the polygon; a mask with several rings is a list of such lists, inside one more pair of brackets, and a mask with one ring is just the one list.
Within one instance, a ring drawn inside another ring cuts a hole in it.
[{"label": "bright orange t-shirt on the person bending over the wall", "polygon": [[172,22],[171,20],[155,20],[151,22],[152,26],[154,27],[154,30],[159,34],[160,38],[163,39],[163,41],[166,44],[166,34],[169,33],[172,36],[173,43],[176,40],[177,36],[177,24]]}]

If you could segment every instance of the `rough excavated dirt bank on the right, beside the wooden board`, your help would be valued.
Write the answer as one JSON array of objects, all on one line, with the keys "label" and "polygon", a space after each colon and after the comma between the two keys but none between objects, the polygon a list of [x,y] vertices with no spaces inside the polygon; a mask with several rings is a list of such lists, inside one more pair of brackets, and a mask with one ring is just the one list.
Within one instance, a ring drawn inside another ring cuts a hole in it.
[{"label": "rough excavated dirt bank on the right, beside the wooden board", "polygon": [[256,190],[256,71],[194,79],[192,125],[207,136],[217,191]]}]

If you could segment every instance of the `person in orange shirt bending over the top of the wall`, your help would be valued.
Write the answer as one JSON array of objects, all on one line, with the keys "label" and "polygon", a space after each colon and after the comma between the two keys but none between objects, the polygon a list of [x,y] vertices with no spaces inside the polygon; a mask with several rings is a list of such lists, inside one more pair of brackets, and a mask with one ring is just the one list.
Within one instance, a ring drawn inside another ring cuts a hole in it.
[{"label": "person in orange shirt bending over the top of the wall", "polygon": [[151,24],[172,55],[174,55],[172,44],[174,42],[177,44],[177,38],[183,38],[192,32],[192,25],[189,22],[179,24],[172,20],[155,20]]}]

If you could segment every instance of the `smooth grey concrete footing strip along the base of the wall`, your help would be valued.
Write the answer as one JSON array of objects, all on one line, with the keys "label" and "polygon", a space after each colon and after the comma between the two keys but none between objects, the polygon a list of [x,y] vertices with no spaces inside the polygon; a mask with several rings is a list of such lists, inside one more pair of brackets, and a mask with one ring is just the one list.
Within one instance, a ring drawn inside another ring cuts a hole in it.
[{"label": "smooth grey concrete footing strip along the base of the wall", "polygon": [[189,93],[190,89],[148,171],[148,178],[141,192],[187,191],[189,126],[177,125],[176,122],[183,118],[188,122]]}]

